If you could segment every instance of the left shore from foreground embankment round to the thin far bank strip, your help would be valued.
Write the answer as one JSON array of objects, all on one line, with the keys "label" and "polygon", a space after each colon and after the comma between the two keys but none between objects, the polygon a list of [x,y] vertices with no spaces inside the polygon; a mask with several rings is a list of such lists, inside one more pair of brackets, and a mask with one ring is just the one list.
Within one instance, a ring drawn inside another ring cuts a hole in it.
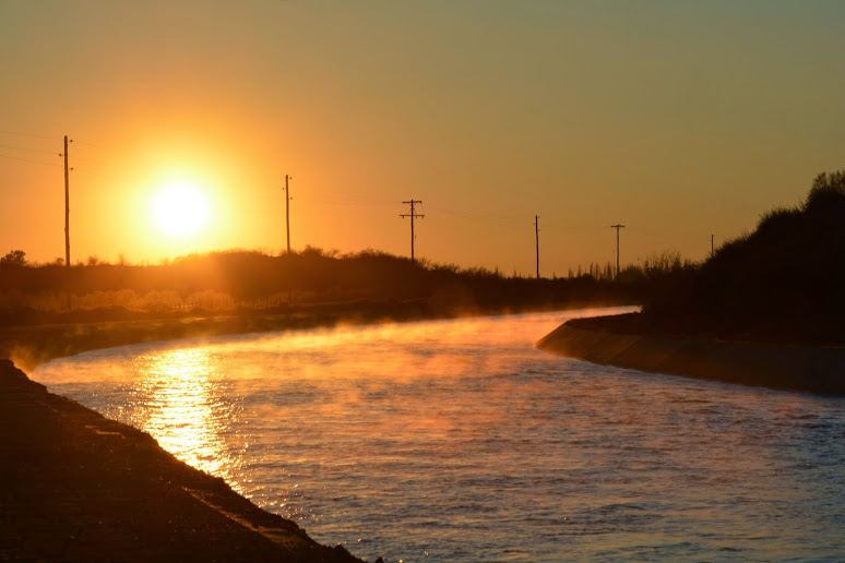
[{"label": "left shore from foreground embankment round to the thin far bank strip", "polygon": [[150,434],[49,393],[20,367],[29,371],[51,359],[131,344],[462,316],[457,313],[344,309],[0,327],[0,358],[15,360],[0,359],[0,479],[5,489],[0,493],[0,553],[17,560],[362,561],[342,546],[318,544],[296,523],[179,462]]}]

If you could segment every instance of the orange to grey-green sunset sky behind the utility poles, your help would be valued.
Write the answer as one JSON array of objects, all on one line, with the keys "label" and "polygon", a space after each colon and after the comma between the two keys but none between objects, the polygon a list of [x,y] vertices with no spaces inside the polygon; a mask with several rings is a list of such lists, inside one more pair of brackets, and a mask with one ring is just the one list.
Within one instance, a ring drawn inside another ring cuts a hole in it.
[{"label": "orange to grey-green sunset sky behind the utility poles", "polygon": [[[845,2],[0,0],[0,252],[700,260],[845,168]],[[160,231],[162,185],[210,200]]]}]

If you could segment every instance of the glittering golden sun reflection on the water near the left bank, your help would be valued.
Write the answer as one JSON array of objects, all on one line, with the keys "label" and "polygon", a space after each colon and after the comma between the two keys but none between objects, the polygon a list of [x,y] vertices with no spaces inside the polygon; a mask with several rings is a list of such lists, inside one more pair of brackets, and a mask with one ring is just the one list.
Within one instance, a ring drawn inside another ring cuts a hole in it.
[{"label": "glittering golden sun reflection on the water near the left bank", "polygon": [[183,348],[139,356],[131,394],[134,424],[182,462],[223,477],[238,489],[238,447],[229,444],[238,406],[224,399],[225,380],[207,348]]}]

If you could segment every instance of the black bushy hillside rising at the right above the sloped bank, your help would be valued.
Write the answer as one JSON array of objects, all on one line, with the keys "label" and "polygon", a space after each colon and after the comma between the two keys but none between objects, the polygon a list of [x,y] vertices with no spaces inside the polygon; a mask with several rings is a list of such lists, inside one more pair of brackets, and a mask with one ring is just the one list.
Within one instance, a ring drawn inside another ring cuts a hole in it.
[{"label": "black bushy hillside rising at the right above the sloped bank", "polygon": [[765,213],[699,268],[664,279],[640,322],[663,332],[772,343],[845,343],[845,171],[804,203]]}]

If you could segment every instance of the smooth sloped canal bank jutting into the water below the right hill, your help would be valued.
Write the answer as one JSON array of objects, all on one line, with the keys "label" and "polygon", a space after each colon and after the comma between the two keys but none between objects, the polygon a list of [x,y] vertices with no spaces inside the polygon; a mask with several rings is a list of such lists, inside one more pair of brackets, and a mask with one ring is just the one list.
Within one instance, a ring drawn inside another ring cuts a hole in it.
[{"label": "smooth sloped canal bank jutting into the water below the right hill", "polygon": [[638,334],[612,331],[612,318],[599,319],[568,321],[540,338],[537,348],[639,371],[845,396],[845,347]]}]

